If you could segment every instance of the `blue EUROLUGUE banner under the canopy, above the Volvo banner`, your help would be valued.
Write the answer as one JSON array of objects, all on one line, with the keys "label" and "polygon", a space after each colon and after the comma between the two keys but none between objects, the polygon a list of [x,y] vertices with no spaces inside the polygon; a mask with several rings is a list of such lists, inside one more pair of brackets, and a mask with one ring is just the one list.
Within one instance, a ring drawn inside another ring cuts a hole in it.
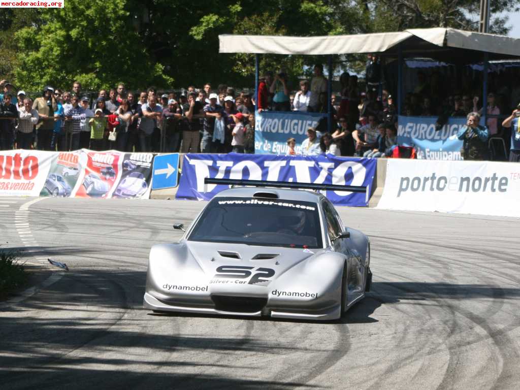
[{"label": "blue EUROLUGUE banner under the canopy, above the Volvo banner", "polygon": [[296,153],[302,152],[307,128],[316,127],[321,118],[318,112],[257,112],[255,115],[255,154],[285,154],[287,140],[296,140]]}]

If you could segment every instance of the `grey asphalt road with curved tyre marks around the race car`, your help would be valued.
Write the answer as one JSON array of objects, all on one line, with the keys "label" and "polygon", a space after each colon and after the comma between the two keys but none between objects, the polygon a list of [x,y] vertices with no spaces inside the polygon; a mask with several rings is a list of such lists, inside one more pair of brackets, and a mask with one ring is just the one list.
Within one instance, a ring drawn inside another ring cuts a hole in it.
[{"label": "grey asphalt road with curved tyre marks around the race car", "polygon": [[202,202],[0,201],[5,246],[70,269],[0,306],[3,390],[520,388],[520,219],[339,207],[373,291],[309,323],[142,308],[150,246]]}]

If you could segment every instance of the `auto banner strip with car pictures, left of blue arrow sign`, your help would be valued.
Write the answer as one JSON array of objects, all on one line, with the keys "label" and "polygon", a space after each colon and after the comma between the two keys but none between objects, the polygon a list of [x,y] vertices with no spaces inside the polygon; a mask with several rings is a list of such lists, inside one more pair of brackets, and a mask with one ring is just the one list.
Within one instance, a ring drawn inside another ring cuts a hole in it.
[{"label": "auto banner strip with car pictures, left of blue arrow sign", "polygon": [[0,151],[0,196],[150,197],[152,153]]}]

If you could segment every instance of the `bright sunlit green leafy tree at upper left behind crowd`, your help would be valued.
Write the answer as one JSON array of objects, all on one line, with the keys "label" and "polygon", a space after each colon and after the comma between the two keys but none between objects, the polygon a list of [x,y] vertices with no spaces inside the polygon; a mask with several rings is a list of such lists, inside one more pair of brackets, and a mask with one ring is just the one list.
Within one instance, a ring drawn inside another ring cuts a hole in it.
[{"label": "bright sunlit green leafy tree at upper left behind crowd", "polygon": [[172,82],[163,66],[151,61],[138,33],[129,28],[126,0],[69,0],[64,8],[42,12],[42,24],[15,33],[16,80],[24,88],[72,85],[84,89],[124,82],[135,87]]}]

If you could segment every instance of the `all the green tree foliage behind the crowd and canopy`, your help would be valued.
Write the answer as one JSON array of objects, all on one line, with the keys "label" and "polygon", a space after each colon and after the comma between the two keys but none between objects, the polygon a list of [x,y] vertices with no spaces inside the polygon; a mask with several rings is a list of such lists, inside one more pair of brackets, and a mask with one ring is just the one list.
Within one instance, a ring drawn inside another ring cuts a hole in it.
[{"label": "all the green tree foliage behind the crowd and canopy", "polygon": [[[493,0],[491,15],[518,0]],[[219,54],[219,34],[339,35],[408,28],[478,29],[475,0],[68,0],[62,9],[0,9],[0,76],[25,89],[84,89],[124,82],[178,88],[211,82],[252,86],[254,56]],[[513,22],[513,21],[510,21]],[[492,32],[506,33],[504,18]],[[359,70],[364,56],[334,56]],[[293,82],[324,57],[261,56],[261,69],[284,69]],[[179,84],[175,85],[175,80]]]}]

